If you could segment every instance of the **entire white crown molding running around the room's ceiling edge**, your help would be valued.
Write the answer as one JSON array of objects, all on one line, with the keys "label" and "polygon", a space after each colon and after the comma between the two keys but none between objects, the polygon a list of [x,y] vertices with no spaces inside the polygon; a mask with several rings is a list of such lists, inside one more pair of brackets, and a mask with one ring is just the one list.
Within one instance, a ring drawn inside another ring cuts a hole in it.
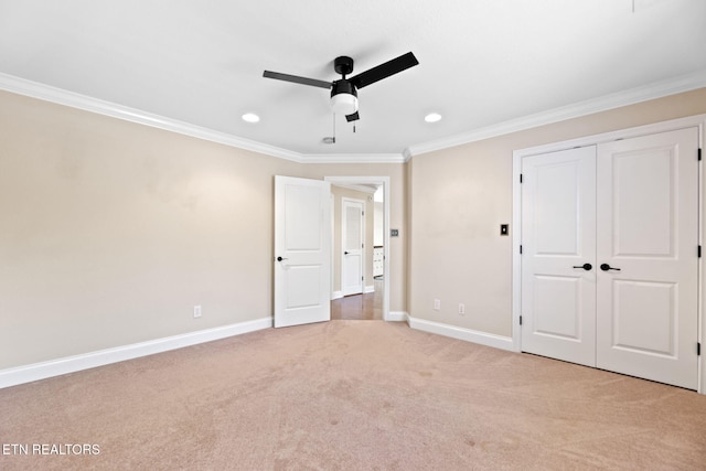
[{"label": "entire white crown molding running around the room's ceiling edge", "polygon": [[662,98],[702,87],[706,87],[706,69],[483,128],[472,129],[468,132],[448,138],[410,144],[400,153],[302,154],[292,150],[240,138],[227,132],[202,128],[164,116],[0,73],[0,89],[3,90],[299,163],[405,163],[411,159],[413,156],[462,146],[464,143],[578,118],[621,106],[634,105],[637,103]]}]

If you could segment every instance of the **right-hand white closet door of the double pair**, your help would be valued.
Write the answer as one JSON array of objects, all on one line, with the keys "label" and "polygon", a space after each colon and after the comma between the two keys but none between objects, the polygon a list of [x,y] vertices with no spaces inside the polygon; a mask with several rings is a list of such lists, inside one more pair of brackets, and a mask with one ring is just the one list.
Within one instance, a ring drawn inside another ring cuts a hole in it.
[{"label": "right-hand white closet door of the double pair", "polygon": [[597,366],[697,388],[698,130],[598,147]]}]

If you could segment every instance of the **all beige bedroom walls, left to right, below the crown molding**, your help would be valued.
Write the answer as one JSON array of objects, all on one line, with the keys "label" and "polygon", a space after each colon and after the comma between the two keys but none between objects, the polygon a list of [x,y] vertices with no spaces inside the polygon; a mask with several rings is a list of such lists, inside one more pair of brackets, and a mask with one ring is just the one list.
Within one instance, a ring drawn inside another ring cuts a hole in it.
[{"label": "all beige bedroom walls, left to right, below the crown molding", "polygon": [[391,310],[510,335],[512,151],[702,113],[706,89],[407,164],[300,164],[0,92],[0,370],[271,315],[275,174],[388,176]]}]

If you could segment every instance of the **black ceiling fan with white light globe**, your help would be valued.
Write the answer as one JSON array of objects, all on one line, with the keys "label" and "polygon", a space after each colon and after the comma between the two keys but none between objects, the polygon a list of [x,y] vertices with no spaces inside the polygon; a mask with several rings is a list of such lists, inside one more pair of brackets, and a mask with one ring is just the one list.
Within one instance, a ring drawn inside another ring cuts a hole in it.
[{"label": "black ceiling fan with white light globe", "polygon": [[360,119],[357,113],[357,89],[366,87],[375,82],[387,78],[409,67],[419,64],[417,57],[411,52],[379,64],[365,72],[345,78],[353,72],[353,60],[342,55],[333,61],[333,69],[341,74],[341,79],[333,82],[319,81],[315,78],[299,77],[297,75],[280,74],[278,72],[265,71],[264,77],[276,78],[278,81],[293,82],[296,84],[309,85],[312,87],[331,89],[331,108],[336,115],[345,115],[345,119],[355,121]]}]

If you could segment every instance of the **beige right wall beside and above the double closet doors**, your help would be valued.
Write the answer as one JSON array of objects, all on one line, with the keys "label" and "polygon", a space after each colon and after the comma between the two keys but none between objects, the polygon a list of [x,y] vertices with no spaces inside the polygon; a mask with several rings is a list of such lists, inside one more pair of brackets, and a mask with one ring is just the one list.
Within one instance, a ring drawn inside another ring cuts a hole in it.
[{"label": "beige right wall beside and above the double closet doors", "polygon": [[512,334],[512,240],[500,224],[512,223],[513,150],[704,113],[706,88],[414,157],[409,314]]}]

